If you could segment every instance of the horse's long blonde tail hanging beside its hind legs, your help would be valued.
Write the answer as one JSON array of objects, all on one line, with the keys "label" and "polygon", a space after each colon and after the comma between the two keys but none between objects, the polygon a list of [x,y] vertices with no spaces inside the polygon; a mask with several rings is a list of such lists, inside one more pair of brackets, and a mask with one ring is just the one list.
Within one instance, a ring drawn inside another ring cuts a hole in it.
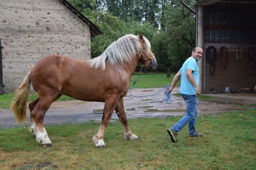
[{"label": "horse's long blonde tail hanging beside its hind legs", "polygon": [[20,84],[20,87],[14,93],[14,99],[11,102],[11,110],[16,118],[17,123],[23,124],[27,115],[27,101],[30,91],[30,77],[34,65],[29,69],[29,72],[25,79]]}]

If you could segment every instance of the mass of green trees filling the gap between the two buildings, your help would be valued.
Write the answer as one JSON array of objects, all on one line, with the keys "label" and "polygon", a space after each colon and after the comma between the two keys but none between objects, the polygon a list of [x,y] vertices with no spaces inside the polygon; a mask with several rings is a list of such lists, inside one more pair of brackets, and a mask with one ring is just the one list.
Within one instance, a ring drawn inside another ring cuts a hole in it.
[{"label": "mass of green trees filling the gap between the two buildings", "polygon": [[[179,1],[69,0],[103,32],[91,40],[91,57],[101,55],[114,41],[140,32],[150,42],[158,71],[178,71],[195,44],[195,16]],[[194,0],[184,0],[190,7]],[[161,27],[159,27],[159,25]],[[139,68],[136,68],[139,69]]]}]

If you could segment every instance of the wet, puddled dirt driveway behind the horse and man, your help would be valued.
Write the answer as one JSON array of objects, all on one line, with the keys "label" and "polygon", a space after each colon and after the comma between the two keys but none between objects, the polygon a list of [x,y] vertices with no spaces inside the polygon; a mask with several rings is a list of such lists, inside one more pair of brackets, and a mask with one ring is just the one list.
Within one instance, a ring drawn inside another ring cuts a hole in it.
[{"label": "wet, puddled dirt driveway behind the horse and man", "polygon": [[[151,89],[132,89],[133,96],[145,96],[159,92],[163,88]],[[176,97],[175,94],[179,91],[179,87],[175,87],[172,91],[171,104],[163,102],[166,98],[164,90],[160,93],[148,97],[133,97],[128,94],[124,97],[124,108],[128,119],[136,117],[166,117],[175,115],[184,115],[186,112],[186,103],[182,97]],[[241,106],[245,104],[256,103],[256,94],[205,94],[212,97],[224,99],[220,100],[200,100],[198,99],[198,115],[217,114],[232,110],[241,110]],[[233,102],[236,101],[236,102]],[[80,100],[53,102],[44,117],[45,125],[55,125],[63,123],[81,123],[90,120],[101,121],[104,103],[102,102],[85,102]],[[248,108],[248,109],[252,109]],[[29,109],[28,109],[29,112]],[[29,115],[27,122],[21,126],[16,124],[16,120],[10,109],[0,108],[0,127],[26,127],[29,125]],[[118,119],[114,112],[112,120]]]}]

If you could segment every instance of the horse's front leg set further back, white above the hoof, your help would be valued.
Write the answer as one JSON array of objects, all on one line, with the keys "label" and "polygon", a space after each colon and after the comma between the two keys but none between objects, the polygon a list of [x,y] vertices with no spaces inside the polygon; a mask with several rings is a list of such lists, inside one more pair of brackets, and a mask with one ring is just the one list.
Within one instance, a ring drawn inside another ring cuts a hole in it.
[{"label": "horse's front leg set further back, white above the hoof", "polygon": [[108,126],[108,123],[113,114],[114,108],[118,102],[118,97],[113,97],[111,99],[106,99],[105,106],[103,110],[102,122],[99,128],[99,131],[93,136],[93,142],[95,143],[96,148],[105,148],[105,143],[103,141],[105,129]]}]

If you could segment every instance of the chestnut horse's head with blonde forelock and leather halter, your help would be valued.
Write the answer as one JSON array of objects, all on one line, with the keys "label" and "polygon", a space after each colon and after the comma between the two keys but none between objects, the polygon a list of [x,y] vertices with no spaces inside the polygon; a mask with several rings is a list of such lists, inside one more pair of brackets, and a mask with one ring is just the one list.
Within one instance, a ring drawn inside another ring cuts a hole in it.
[{"label": "chestnut horse's head with blonde forelock and leather halter", "polygon": [[139,41],[141,44],[141,49],[139,53],[139,64],[142,67],[148,67],[150,69],[157,68],[157,60],[154,54],[151,52],[150,42],[139,33]]}]

